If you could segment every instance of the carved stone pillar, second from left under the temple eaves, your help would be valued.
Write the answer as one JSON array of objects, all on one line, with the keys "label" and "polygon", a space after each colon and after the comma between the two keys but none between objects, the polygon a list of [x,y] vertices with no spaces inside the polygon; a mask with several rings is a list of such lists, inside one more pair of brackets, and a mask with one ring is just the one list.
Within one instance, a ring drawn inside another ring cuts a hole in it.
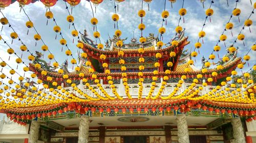
[{"label": "carved stone pillar, second from left under the temple eaves", "polygon": [[81,116],[79,131],[78,131],[78,143],[88,143],[89,137],[89,117]]}]

